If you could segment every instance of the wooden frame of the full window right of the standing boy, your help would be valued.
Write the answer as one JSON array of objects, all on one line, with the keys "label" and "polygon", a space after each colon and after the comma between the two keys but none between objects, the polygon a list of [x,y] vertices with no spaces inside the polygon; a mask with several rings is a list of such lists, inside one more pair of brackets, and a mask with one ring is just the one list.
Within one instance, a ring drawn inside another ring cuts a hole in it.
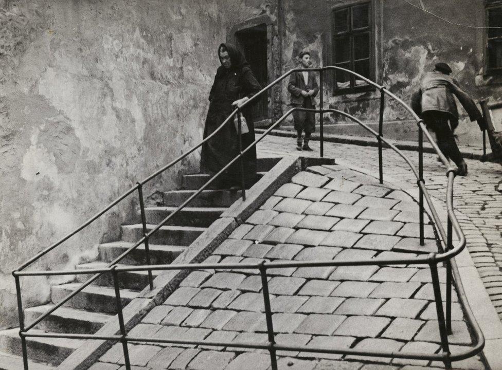
[{"label": "wooden frame of the full window right of the standing boy", "polygon": [[[361,5],[368,5],[368,26],[360,29],[352,29],[353,25],[353,17],[352,17],[352,9],[357,6]],[[348,24],[349,24],[349,30],[346,32],[338,32],[335,33],[335,12],[348,9]],[[354,63],[355,63],[355,57],[354,57],[354,48],[353,48],[353,38],[354,36],[357,36],[358,34],[363,34],[365,32],[369,33],[369,45],[368,45],[368,62],[369,62],[369,76],[368,78],[370,80],[375,80],[375,67],[376,67],[376,52],[375,52],[375,11],[374,11],[374,1],[373,0],[354,0],[351,2],[347,2],[345,4],[341,5],[336,5],[331,7],[330,9],[330,44],[331,44],[331,50],[330,50],[330,59],[331,59],[331,64],[332,65],[337,65],[340,63],[335,62],[335,49],[336,49],[336,38],[338,35],[343,35],[344,33],[346,35],[349,35],[350,37],[350,67],[347,69],[354,70]],[[346,63],[346,62],[345,62]],[[336,77],[335,73],[332,75],[332,95],[333,96],[338,96],[338,95],[347,95],[347,94],[355,94],[355,93],[363,93],[366,91],[373,91],[375,90],[374,86],[365,84],[365,85],[360,85],[356,86],[355,85],[355,79],[354,76],[351,75],[350,79],[350,86],[349,87],[344,87],[344,88],[339,88],[336,86]]]}]

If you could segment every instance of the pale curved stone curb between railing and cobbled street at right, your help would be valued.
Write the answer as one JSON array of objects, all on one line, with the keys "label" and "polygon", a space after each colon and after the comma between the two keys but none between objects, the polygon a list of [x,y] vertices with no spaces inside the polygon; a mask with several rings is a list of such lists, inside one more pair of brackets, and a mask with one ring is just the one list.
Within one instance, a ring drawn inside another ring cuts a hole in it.
[{"label": "pale curved stone curb between railing and cobbled street at right", "polygon": [[[343,163],[338,163],[343,164]],[[354,169],[354,168],[353,168]],[[357,168],[356,171],[362,172],[366,175],[378,178],[379,174],[373,171],[367,171],[365,169]],[[409,184],[403,183],[399,180],[393,179],[390,176],[384,177],[385,182],[391,183],[398,187],[413,197],[418,201],[418,190],[410,189]],[[406,189],[407,188],[407,189]],[[446,210],[444,209],[444,202],[431,196],[438,216],[442,220],[446,220]],[[461,212],[455,210],[457,216],[461,215]],[[446,221],[443,223],[443,228],[446,230]],[[455,236],[455,235],[454,235]],[[455,242],[454,237],[454,242]],[[483,335],[485,336],[485,347],[482,350],[482,354],[485,360],[492,370],[502,369],[502,322],[493,307],[485,286],[481,280],[478,270],[471,258],[471,255],[466,248],[462,250],[456,257],[455,261],[457,263],[458,272],[460,275],[461,283],[467,297],[467,301],[471,310],[474,314],[476,322],[478,323]],[[455,363],[454,363],[455,364]]]}]

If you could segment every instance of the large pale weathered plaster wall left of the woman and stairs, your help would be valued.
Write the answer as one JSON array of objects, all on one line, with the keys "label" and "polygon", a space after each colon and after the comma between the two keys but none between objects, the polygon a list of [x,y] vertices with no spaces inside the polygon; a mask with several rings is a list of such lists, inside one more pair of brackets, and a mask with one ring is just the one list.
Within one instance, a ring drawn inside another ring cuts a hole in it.
[{"label": "large pale weathered plaster wall left of the woman and stairs", "polygon": [[[0,0],[0,328],[10,272],[202,137],[226,0]],[[193,156],[175,170],[198,168]],[[170,187],[176,172],[148,191]],[[134,197],[37,264],[73,267]],[[108,233],[111,230],[111,234]],[[25,302],[49,298],[23,279]]]}]

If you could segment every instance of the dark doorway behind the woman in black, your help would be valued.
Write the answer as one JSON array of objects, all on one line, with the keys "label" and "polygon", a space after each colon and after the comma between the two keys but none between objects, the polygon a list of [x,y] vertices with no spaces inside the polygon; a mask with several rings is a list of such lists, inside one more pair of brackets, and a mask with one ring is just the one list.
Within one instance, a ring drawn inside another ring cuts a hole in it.
[{"label": "dark doorway behind the woman in black", "polygon": [[[256,79],[262,87],[268,83],[267,75],[267,34],[266,25],[246,28],[235,34],[239,47],[249,62]],[[255,122],[268,118],[268,94],[263,93],[253,104],[253,120]]]}]

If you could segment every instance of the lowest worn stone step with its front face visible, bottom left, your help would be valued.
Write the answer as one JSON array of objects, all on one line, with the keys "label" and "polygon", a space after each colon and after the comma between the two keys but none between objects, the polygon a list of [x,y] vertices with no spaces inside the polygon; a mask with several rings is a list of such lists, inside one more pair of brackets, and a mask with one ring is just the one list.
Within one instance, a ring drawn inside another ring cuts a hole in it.
[{"label": "lowest worn stone step with its front face visible, bottom left", "polygon": [[[33,329],[31,332],[34,334],[44,331]],[[68,338],[26,339],[28,358],[32,361],[44,362],[53,366],[59,365],[83,343],[84,340]],[[18,328],[0,331],[0,350],[14,355],[21,355],[23,353]]]}]

